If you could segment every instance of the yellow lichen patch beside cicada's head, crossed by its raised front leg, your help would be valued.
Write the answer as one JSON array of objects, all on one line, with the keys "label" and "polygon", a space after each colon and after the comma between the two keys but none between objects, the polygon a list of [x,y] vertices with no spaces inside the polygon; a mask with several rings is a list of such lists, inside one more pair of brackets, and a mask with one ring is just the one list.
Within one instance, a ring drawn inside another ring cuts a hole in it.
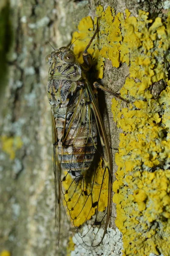
[{"label": "yellow lichen patch beside cicada's head, crossed by its raised front leg", "polygon": [[[120,24],[122,22],[123,14],[114,14],[113,8],[108,6],[105,12],[102,12],[102,6],[96,8],[96,15],[99,18],[99,32],[98,36],[91,44],[88,52],[94,58],[94,66],[96,68],[96,78],[103,77],[104,60],[108,58],[111,60],[113,67],[119,67],[120,63],[120,46],[122,41],[122,34]],[[74,53],[80,63],[83,63],[82,52],[88,45],[90,39],[96,29],[96,20],[94,24],[90,16],[83,18],[78,26],[79,32],[74,32],[72,42],[74,42]]]}]

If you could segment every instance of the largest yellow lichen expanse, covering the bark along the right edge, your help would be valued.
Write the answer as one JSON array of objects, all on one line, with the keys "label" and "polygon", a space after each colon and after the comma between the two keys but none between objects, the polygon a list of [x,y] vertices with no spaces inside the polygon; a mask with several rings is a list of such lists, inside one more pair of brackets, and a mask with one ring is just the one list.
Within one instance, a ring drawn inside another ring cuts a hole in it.
[{"label": "largest yellow lichen expanse, covering the bark along the right edge", "polygon": [[[170,252],[170,60],[169,20],[148,19],[139,11],[122,21],[120,60],[130,75],[122,88],[130,108],[116,114],[120,134],[118,171],[113,190],[117,204],[116,225],[123,233],[124,255],[168,256]],[[152,84],[164,79],[166,88],[153,99]],[[133,102],[133,103],[132,103]]]}]

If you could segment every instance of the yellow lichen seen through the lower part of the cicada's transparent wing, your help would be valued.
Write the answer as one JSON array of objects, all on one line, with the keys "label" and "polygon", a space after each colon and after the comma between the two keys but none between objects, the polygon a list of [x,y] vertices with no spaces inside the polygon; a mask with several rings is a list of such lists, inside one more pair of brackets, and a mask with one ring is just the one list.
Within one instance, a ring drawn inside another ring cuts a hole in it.
[{"label": "yellow lichen seen through the lower part of the cicada's transparent wing", "polygon": [[91,219],[96,209],[103,212],[107,207],[108,172],[102,169],[102,161],[94,173],[95,175],[92,175],[88,181],[83,178],[83,180],[75,182],[71,175],[65,172],[65,178],[62,181],[65,190],[63,202],[75,227],[79,227]]}]

